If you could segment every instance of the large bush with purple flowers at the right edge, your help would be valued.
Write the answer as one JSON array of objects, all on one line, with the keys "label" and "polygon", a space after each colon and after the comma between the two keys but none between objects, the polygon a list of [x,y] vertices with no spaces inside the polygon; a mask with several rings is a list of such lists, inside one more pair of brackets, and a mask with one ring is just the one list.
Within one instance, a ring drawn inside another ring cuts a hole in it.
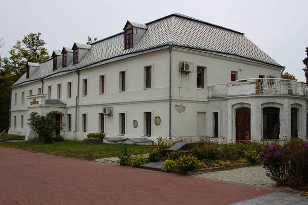
[{"label": "large bush with purple flowers at the right edge", "polygon": [[308,182],[308,144],[304,140],[266,144],[260,158],[266,175],[276,181],[278,187],[296,187]]}]

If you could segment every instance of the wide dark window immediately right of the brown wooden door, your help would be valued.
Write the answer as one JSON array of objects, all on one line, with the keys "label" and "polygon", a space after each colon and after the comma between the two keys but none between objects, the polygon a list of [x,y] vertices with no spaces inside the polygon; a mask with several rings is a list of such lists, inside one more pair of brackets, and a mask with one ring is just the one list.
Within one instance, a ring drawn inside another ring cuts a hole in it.
[{"label": "wide dark window immediately right of the brown wooden door", "polygon": [[263,138],[279,139],[280,119],[279,108],[266,107],[263,108]]}]

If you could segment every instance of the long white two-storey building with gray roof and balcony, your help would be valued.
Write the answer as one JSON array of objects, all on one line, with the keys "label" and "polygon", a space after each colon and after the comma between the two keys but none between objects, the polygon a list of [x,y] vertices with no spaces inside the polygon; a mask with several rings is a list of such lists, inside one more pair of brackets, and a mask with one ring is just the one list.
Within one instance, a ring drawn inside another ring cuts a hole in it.
[{"label": "long white two-storey building with gray roof and balcony", "polygon": [[177,13],[123,30],[28,62],[9,133],[31,139],[28,117],[52,113],[65,139],[306,136],[306,85],[280,79],[284,67],[243,33]]}]

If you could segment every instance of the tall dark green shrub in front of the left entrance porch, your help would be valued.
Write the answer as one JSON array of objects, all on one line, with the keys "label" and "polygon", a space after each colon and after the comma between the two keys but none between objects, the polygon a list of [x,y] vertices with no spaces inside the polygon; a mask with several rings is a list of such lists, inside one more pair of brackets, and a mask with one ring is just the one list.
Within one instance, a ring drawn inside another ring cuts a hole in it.
[{"label": "tall dark green shrub in front of the left entrance porch", "polygon": [[51,144],[56,131],[63,130],[60,121],[54,121],[52,115],[31,115],[28,119],[29,127],[35,132],[35,141]]}]

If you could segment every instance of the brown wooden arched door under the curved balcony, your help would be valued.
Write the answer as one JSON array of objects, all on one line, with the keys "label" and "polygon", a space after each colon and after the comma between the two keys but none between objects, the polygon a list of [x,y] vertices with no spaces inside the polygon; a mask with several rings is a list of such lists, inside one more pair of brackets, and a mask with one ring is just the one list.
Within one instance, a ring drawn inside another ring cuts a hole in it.
[{"label": "brown wooden arched door under the curved balcony", "polygon": [[235,119],[236,140],[251,140],[251,109],[239,108]]}]

